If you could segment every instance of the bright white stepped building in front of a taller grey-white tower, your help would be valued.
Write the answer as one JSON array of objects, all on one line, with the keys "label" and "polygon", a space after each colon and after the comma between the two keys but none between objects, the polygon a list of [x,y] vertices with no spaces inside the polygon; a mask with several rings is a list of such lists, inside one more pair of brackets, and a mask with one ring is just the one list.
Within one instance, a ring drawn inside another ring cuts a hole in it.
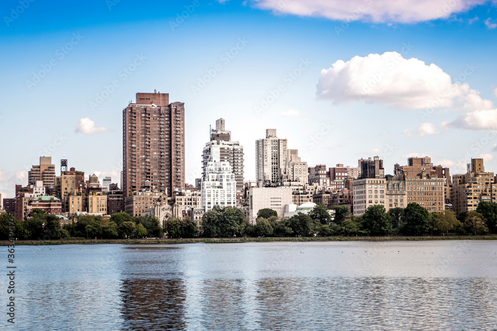
[{"label": "bright white stepped building in front of a taller grey-white tower", "polygon": [[202,208],[211,210],[215,205],[235,207],[237,205],[237,181],[229,162],[207,163],[202,181]]}]

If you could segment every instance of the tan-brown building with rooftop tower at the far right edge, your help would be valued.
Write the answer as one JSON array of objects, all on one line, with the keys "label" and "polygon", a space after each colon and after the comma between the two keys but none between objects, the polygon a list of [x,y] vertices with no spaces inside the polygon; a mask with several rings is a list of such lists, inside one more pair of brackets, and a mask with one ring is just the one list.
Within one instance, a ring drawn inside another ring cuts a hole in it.
[{"label": "tan-brown building with rooftop tower at the far right edge", "polygon": [[485,172],[483,159],[471,159],[464,175],[452,176],[452,205],[454,212],[475,210],[481,201],[497,202],[497,184],[493,172]]}]

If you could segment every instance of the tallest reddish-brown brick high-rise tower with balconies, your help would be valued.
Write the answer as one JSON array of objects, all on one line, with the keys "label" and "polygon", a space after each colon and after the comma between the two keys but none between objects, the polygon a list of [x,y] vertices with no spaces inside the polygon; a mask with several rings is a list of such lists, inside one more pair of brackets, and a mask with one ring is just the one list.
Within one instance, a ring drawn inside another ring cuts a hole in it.
[{"label": "tallest reddish-brown brick high-rise tower with balconies", "polygon": [[[172,194],[185,181],[184,103],[168,93],[137,93],[123,109],[123,193],[152,190]],[[132,212],[133,213],[133,212]]]}]

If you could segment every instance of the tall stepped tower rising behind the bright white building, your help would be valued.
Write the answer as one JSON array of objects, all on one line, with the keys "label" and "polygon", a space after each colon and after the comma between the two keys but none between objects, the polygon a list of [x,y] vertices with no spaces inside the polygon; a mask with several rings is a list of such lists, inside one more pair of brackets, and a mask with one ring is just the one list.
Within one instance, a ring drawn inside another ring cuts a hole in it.
[{"label": "tall stepped tower rising behind the bright white building", "polygon": [[210,141],[205,144],[202,153],[202,178],[205,180],[209,162],[229,162],[237,181],[237,202],[242,205],[244,199],[244,147],[238,141],[231,140],[231,131],[226,130],[225,120],[216,120],[216,129],[211,130]]}]

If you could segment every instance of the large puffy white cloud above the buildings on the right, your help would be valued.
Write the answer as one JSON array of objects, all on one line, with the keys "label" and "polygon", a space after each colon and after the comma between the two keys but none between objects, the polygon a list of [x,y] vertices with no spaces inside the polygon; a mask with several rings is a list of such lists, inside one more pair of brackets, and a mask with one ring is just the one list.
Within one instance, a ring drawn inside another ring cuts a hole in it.
[{"label": "large puffy white cloud above the buildings on the right", "polygon": [[[467,67],[470,72],[475,68],[472,64]],[[439,66],[405,59],[397,52],[336,61],[329,69],[321,70],[317,95],[333,104],[364,100],[396,109],[494,108],[492,101],[482,99],[468,83],[452,83],[450,75]]]}]

